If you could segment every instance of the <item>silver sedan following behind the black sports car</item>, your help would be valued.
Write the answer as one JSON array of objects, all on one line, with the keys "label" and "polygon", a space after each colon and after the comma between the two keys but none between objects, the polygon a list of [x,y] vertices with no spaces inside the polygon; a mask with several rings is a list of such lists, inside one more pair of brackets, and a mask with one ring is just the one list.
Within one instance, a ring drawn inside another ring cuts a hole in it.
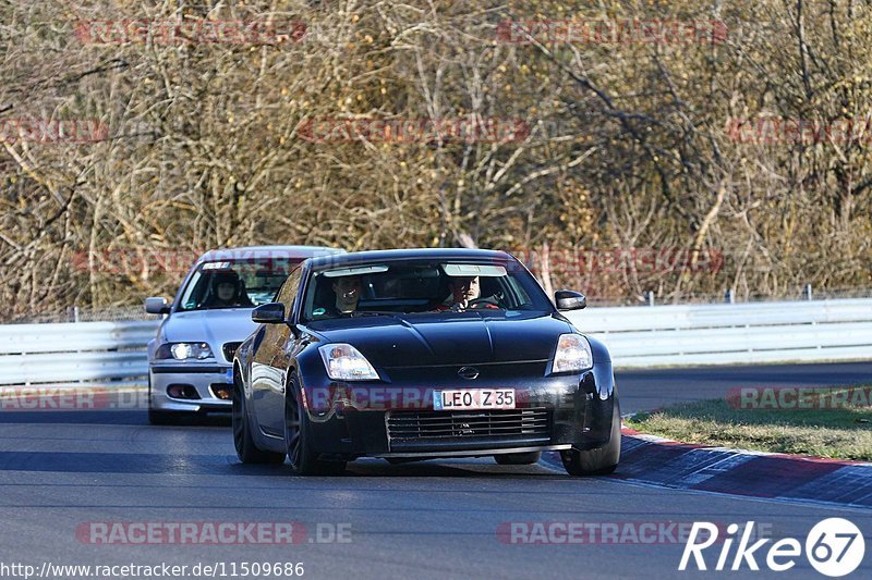
[{"label": "silver sedan following behind the black sports car", "polygon": [[303,260],[341,252],[314,246],[210,250],[191,267],[172,301],[146,298],[146,312],[165,317],[148,343],[149,421],[229,412],[233,353],[256,328],[252,309],[271,301]]}]

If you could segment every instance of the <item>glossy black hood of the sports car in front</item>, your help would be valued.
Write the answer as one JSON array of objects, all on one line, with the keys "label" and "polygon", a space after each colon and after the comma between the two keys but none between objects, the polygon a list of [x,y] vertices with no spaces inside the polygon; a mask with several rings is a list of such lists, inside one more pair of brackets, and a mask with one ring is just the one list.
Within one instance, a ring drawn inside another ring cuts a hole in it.
[{"label": "glossy black hood of the sports car in front", "polygon": [[572,328],[542,312],[380,316],[312,322],[329,343],[349,343],[379,367],[545,360]]}]

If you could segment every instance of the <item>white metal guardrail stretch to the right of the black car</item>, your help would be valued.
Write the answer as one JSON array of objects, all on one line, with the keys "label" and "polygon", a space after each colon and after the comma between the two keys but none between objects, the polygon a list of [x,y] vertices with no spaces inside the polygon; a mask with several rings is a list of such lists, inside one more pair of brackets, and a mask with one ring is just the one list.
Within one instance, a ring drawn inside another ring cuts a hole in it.
[{"label": "white metal guardrail stretch to the right of the black car", "polygon": [[569,312],[616,368],[872,360],[872,299]]}]

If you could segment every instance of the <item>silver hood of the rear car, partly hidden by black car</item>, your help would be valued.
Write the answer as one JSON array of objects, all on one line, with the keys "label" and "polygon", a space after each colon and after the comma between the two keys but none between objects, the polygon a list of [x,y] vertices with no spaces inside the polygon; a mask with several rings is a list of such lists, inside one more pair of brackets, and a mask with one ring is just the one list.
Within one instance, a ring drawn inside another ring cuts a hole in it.
[{"label": "silver hood of the rear car, partly hidden by black car", "polygon": [[244,341],[256,328],[251,308],[174,312],[164,322],[164,340],[207,342],[213,348],[220,348],[223,343]]}]

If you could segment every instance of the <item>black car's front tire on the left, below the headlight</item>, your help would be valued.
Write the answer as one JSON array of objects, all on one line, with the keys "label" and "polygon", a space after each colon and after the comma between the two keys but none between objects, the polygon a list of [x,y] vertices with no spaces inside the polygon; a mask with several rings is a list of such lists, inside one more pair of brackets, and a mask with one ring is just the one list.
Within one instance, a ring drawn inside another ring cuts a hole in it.
[{"label": "black car's front tire on the left, below the headlight", "polygon": [[311,422],[303,410],[302,394],[296,378],[288,380],[284,390],[284,447],[294,476],[338,476],[346,461],[323,461],[312,446]]}]

